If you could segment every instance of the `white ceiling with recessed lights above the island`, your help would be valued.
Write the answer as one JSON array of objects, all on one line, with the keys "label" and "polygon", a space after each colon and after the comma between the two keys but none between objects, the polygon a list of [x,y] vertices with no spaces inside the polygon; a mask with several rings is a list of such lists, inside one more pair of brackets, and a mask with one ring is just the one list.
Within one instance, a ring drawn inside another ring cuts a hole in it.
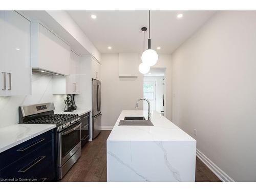
[{"label": "white ceiling with recessed lights above the island", "polygon": [[[141,53],[148,11],[67,11],[101,53]],[[151,48],[172,53],[216,11],[151,11]],[[183,13],[181,19],[178,13]],[[96,19],[91,15],[95,14]],[[148,31],[148,30],[147,30]],[[147,42],[148,33],[145,33]],[[111,46],[112,50],[108,47]],[[147,44],[145,45],[145,48]]]}]

